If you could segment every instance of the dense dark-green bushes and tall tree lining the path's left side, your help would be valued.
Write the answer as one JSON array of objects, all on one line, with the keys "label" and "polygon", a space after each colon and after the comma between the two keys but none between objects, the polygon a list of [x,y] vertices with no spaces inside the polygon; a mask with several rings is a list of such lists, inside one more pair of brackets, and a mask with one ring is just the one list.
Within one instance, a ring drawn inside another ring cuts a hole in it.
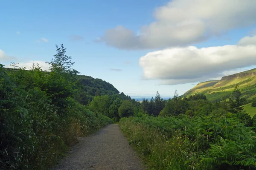
[{"label": "dense dark-green bushes and tall tree lining the path's left side", "polygon": [[63,45],[43,72],[0,64],[0,169],[46,170],[64,156],[78,136],[113,123],[76,99],[76,70]]}]

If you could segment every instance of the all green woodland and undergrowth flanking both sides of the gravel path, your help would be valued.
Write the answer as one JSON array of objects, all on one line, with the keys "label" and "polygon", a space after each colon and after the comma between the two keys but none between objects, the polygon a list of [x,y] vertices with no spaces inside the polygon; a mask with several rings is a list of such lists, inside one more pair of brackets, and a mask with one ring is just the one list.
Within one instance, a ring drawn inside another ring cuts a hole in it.
[{"label": "all green woodland and undergrowth flanking both sides of the gravel path", "polygon": [[0,65],[0,169],[48,169],[78,136],[119,121],[151,169],[256,169],[256,116],[243,110],[248,101],[238,85],[221,102],[177,91],[169,100],[157,92],[138,102],[79,75],[65,52],[56,45],[50,72],[36,63]]}]

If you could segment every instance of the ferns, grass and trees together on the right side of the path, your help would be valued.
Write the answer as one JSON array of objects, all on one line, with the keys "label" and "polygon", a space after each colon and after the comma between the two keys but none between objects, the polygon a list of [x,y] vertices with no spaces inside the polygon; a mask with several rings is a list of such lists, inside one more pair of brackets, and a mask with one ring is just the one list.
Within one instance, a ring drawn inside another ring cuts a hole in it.
[{"label": "ferns, grass and trees together on the right side of the path", "polygon": [[238,86],[223,99],[175,91],[158,117],[137,113],[119,125],[151,169],[256,170],[256,116],[243,111]]}]

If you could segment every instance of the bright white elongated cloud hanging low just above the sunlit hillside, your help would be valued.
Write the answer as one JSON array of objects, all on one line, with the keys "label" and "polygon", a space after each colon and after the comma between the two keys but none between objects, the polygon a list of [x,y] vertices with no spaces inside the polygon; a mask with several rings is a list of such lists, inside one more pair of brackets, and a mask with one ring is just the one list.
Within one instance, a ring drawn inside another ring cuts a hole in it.
[{"label": "bright white elongated cloud hanging low just above the sunlit hillside", "polygon": [[148,53],[139,61],[143,78],[160,79],[161,84],[175,85],[220,77],[230,70],[256,65],[255,38],[244,37],[238,45],[189,46]]}]

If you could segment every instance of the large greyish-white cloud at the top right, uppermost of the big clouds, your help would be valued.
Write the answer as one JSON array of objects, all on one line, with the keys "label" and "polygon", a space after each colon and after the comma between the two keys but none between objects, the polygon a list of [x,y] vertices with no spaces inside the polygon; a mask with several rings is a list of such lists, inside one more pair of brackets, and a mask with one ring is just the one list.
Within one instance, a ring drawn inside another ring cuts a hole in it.
[{"label": "large greyish-white cloud at the top right, uppermost of the big clouds", "polygon": [[97,42],[120,49],[153,49],[191,45],[233,28],[256,24],[256,0],[172,0],[156,8],[155,22],[140,34],[117,26]]}]

